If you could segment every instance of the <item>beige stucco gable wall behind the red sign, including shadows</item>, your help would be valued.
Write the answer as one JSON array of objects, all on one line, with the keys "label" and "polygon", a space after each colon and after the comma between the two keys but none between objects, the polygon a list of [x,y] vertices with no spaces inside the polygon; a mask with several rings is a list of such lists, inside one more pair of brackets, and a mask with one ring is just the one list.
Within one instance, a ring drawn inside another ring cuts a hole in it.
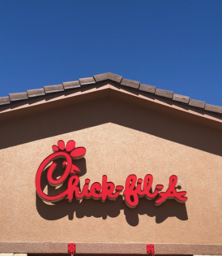
[{"label": "beige stucco gable wall behind the red sign, including shadows", "polygon": [[[76,160],[86,172],[81,184],[107,175],[124,185],[132,173],[150,173],[154,184],[167,187],[175,174],[188,200],[156,207],[141,199],[135,209],[121,197],[45,204],[36,196],[35,175],[59,139],[87,149]],[[107,97],[2,122],[0,141],[0,241],[222,242],[220,131]]]}]

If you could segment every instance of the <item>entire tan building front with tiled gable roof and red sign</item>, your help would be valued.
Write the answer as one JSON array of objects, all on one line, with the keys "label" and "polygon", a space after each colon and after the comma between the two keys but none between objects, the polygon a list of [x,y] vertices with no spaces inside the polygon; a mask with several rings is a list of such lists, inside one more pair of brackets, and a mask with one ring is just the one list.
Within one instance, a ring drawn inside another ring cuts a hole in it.
[{"label": "entire tan building front with tiled gable roof and red sign", "polygon": [[1,254],[222,255],[221,107],[112,73],[0,103]]}]

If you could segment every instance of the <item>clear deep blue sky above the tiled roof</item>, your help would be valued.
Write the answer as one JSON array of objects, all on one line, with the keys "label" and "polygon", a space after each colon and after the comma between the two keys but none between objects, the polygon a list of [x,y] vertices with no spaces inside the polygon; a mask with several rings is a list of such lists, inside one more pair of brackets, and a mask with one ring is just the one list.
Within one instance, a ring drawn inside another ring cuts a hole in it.
[{"label": "clear deep blue sky above the tiled roof", "polygon": [[98,73],[222,105],[221,0],[0,0],[0,96]]}]

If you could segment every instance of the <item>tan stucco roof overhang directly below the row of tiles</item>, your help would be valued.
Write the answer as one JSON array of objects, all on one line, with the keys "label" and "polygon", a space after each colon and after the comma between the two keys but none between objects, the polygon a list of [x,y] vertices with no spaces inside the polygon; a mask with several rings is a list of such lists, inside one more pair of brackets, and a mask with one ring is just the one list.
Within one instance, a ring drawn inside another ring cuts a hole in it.
[{"label": "tan stucco roof overhang directly below the row of tiles", "polygon": [[25,101],[15,102],[14,104],[2,105],[0,108],[0,121],[44,112],[65,105],[92,101],[102,97],[112,97],[119,101],[162,112],[163,114],[171,115],[176,118],[183,118],[216,130],[222,130],[222,118],[218,114],[207,112],[188,104],[171,101],[155,94],[121,86],[110,80],[102,83],[94,83],[87,87],[74,88],[68,91],[33,97]]}]

